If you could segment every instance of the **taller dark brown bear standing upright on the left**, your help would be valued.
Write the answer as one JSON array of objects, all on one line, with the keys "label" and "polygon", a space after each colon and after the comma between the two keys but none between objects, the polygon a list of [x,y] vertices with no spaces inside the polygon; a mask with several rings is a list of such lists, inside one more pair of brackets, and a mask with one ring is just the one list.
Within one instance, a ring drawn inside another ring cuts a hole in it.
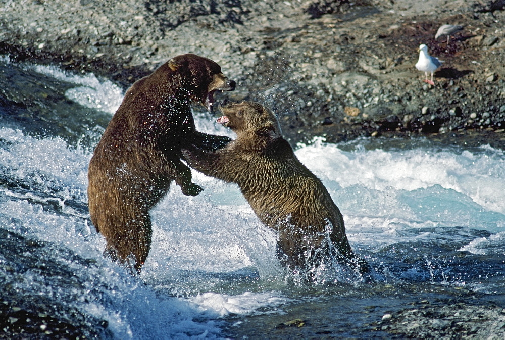
[{"label": "taller dark brown bear standing upright on the left", "polygon": [[88,169],[89,213],[107,241],[105,255],[140,271],[151,244],[149,210],[173,180],[185,195],[201,191],[181,148],[216,150],[230,140],[196,131],[191,105],[210,110],[215,91],[234,89],[217,63],[193,54],[170,59],[128,89]]}]

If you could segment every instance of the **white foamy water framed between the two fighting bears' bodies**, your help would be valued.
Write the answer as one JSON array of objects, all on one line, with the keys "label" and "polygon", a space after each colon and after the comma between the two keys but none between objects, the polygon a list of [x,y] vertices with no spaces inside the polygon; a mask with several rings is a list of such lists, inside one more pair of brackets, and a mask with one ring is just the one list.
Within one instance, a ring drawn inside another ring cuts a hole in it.
[{"label": "white foamy water framed between the two fighting bears' bodies", "polygon": [[159,277],[179,270],[228,273],[254,266],[263,277],[277,275],[276,235],[259,222],[238,188],[215,179],[203,186],[200,195],[190,198],[174,185],[151,212],[153,246],[145,272]]}]

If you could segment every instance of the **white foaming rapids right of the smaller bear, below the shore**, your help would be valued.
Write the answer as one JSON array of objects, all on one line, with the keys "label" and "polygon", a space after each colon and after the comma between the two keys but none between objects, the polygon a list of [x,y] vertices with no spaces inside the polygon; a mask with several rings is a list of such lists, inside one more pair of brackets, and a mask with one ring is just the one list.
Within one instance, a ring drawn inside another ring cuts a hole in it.
[{"label": "white foaming rapids right of the smaller bear, below the shore", "polygon": [[346,152],[316,141],[296,155],[323,180],[351,230],[353,218],[365,217],[493,232],[505,226],[505,159],[499,150]]}]

